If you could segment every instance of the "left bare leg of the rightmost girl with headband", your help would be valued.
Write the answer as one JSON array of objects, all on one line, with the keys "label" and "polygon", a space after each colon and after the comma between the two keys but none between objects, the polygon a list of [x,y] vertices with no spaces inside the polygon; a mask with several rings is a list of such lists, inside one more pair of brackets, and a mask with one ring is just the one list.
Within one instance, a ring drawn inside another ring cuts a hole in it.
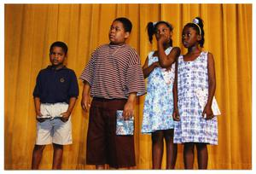
[{"label": "left bare leg of the rightmost girl with headband", "polygon": [[187,142],[184,143],[183,149],[183,160],[185,169],[193,169],[194,165],[194,143]]}]

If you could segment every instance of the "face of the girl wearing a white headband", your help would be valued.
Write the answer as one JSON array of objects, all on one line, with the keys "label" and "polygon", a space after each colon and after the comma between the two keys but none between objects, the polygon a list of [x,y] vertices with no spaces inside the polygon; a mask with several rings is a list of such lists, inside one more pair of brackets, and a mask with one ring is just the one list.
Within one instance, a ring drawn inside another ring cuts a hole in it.
[{"label": "face of the girl wearing a white headband", "polygon": [[190,48],[199,44],[200,36],[196,33],[193,27],[186,26],[183,28],[182,41],[185,48]]}]

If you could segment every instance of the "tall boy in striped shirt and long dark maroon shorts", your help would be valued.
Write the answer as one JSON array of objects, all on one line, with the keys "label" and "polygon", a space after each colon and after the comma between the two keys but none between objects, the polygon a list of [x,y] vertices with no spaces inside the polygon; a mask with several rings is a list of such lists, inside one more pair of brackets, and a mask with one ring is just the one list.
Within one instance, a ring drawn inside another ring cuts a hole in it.
[{"label": "tall boy in striped shirt and long dark maroon shorts", "polygon": [[[146,93],[143,70],[135,49],[125,44],[131,34],[131,21],[113,20],[109,44],[99,46],[84,67],[81,106],[90,109],[86,163],[96,169],[129,168],[136,165],[133,136],[117,136],[116,111],[123,117],[134,115],[136,97]],[[92,96],[92,102],[90,102]]]}]

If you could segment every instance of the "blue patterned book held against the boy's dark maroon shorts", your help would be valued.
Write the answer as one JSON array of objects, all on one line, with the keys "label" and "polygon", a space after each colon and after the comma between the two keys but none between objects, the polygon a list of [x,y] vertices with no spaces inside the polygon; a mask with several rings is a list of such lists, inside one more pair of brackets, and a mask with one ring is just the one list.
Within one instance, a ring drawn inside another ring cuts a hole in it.
[{"label": "blue patterned book held against the boy's dark maroon shorts", "polygon": [[134,118],[124,119],[123,111],[116,111],[116,135],[118,136],[128,136],[133,135],[134,131]]}]

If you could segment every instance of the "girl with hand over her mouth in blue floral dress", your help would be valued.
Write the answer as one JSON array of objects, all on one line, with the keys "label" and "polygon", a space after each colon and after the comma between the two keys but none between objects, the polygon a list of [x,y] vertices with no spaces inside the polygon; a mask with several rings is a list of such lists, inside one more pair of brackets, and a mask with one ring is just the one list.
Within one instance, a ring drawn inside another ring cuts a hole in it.
[{"label": "girl with hand over her mouth in blue floral dress", "polygon": [[173,144],[172,119],[175,61],[180,49],[172,48],[172,26],[166,21],[148,23],[148,38],[153,35],[158,50],[152,51],[143,66],[144,78],[148,78],[147,96],[143,109],[143,133],[152,134],[153,169],[161,168],[163,140],[166,140],[166,169],[173,169],[177,157],[177,144]]}]

